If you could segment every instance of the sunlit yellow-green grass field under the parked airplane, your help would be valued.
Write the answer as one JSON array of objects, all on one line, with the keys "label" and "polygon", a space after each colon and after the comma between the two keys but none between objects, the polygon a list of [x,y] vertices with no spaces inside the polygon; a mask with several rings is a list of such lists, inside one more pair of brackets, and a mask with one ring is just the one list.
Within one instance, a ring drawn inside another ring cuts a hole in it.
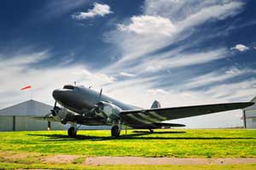
[{"label": "sunlit yellow-green grass field under the parked airplane", "polygon": [[[170,156],[170,157],[256,157],[256,130],[244,129],[168,129],[123,131],[117,139],[108,130],[79,131],[77,139],[67,137],[66,131],[0,133],[0,168],[86,168],[87,156]],[[9,159],[6,155],[26,153]],[[79,156],[73,162],[45,164],[41,157],[55,154]],[[82,158],[82,159],[81,159]],[[82,166],[82,167],[81,167]],[[128,169],[129,166],[103,166],[106,169]],[[151,166],[151,169],[186,167],[186,169],[256,169],[255,165],[237,166]],[[137,166],[148,169],[148,166]],[[131,167],[129,168],[131,169]],[[133,168],[135,169],[135,167]]]}]

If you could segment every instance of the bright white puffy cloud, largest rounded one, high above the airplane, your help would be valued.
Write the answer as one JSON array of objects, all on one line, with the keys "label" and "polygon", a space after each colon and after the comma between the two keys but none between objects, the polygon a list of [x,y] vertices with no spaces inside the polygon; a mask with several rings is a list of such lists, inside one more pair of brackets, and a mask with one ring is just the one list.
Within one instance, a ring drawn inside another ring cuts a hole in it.
[{"label": "bright white puffy cloud, largest rounded one, high above the airplane", "polygon": [[131,17],[131,24],[119,25],[119,31],[131,31],[139,35],[163,35],[172,36],[176,27],[168,18],[160,16],[140,15]]}]

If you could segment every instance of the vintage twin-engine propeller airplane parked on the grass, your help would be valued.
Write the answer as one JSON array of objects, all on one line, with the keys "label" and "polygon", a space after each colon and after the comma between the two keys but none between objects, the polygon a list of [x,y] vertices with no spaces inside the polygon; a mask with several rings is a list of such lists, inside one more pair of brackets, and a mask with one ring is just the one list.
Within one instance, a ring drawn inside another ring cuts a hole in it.
[{"label": "vintage twin-engine propeller airplane parked on the grass", "polygon": [[76,136],[78,125],[110,125],[114,137],[119,136],[122,125],[149,129],[153,133],[155,128],[185,126],[163,122],[166,120],[243,109],[254,105],[256,101],[254,98],[251,102],[160,108],[160,103],[155,100],[151,109],[143,109],[111,99],[103,95],[102,90],[98,93],[91,88],[74,85],[55,89],[53,97],[54,108],[44,116],[44,120],[69,123],[71,126],[67,133],[70,137]]}]

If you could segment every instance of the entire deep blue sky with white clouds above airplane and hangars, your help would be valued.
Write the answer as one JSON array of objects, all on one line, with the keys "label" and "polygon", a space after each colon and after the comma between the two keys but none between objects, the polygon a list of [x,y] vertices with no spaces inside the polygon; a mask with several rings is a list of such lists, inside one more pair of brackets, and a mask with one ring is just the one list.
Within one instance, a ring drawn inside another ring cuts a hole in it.
[{"label": "entire deep blue sky with white clouds above airplane and hangars", "polygon": [[[247,101],[256,95],[253,0],[2,1],[0,108],[78,82],[149,107]],[[241,111],[177,120],[241,126]]]}]

